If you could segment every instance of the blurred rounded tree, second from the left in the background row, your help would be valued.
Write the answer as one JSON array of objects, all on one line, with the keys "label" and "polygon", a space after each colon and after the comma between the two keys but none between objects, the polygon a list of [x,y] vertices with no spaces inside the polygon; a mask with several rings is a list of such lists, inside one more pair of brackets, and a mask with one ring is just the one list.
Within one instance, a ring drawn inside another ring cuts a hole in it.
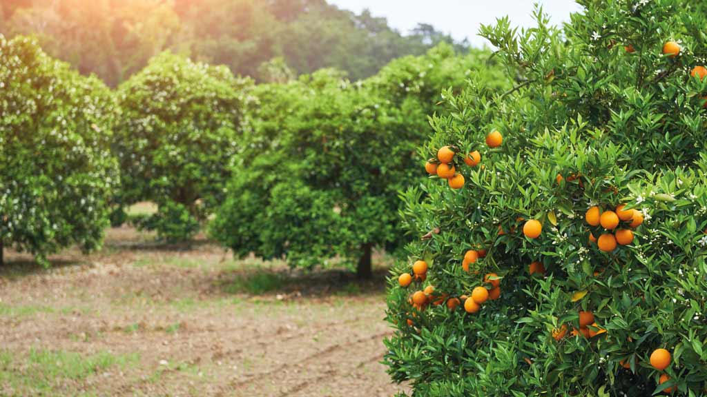
[{"label": "blurred rounded tree, second from the left in the background row", "polygon": [[119,201],[156,203],[144,226],[160,237],[189,239],[223,196],[249,87],[225,67],[167,52],[120,85]]}]

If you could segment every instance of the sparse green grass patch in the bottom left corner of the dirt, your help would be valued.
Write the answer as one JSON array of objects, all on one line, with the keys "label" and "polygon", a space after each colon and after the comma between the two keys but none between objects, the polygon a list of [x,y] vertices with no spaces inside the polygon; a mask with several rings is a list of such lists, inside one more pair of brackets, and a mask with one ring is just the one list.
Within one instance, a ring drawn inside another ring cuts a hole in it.
[{"label": "sparse green grass patch in the bottom left corner of the dirt", "polygon": [[25,357],[0,351],[0,386],[18,396],[55,396],[67,381],[83,381],[110,367],[136,365],[139,355],[113,355],[101,351],[81,355],[64,350],[30,349]]}]

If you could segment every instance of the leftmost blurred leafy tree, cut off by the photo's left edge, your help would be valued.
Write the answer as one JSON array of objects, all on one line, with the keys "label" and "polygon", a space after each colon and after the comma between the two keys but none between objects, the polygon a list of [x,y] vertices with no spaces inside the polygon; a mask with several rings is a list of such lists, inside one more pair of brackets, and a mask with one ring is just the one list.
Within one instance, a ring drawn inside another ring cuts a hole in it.
[{"label": "leftmost blurred leafy tree, cut off by the photo's left edge", "polygon": [[118,182],[110,90],[0,35],[0,246],[47,255],[100,246]]}]

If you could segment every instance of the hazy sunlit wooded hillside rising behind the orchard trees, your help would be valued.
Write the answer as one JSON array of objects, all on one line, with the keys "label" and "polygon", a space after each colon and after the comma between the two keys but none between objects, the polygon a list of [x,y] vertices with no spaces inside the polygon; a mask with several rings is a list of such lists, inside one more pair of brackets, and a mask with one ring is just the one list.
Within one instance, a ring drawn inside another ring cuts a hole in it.
[{"label": "hazy sunlit wooded hillside rising behind the orchard trees", "polygon": [[402,35],[325,0],[4,0],[0,32],[35,35],[53,57],[113,86],[164,49],[271,81],[325,67],[358,80],[439,42],[468,47],[431,25]]}]

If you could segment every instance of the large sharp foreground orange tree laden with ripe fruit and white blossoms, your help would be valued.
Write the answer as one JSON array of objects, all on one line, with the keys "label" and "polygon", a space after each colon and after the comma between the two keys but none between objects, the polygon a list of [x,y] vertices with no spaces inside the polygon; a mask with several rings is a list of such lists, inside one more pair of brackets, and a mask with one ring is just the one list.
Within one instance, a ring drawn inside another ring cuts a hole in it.
[{"label": "large sharp foreground orange tree laden with ripe fruit and white blossoms", "polygon": [[387,300],[414,396],[707,393],[707,20],[579,3],[483,27],[515,87],[433,118]]}]

